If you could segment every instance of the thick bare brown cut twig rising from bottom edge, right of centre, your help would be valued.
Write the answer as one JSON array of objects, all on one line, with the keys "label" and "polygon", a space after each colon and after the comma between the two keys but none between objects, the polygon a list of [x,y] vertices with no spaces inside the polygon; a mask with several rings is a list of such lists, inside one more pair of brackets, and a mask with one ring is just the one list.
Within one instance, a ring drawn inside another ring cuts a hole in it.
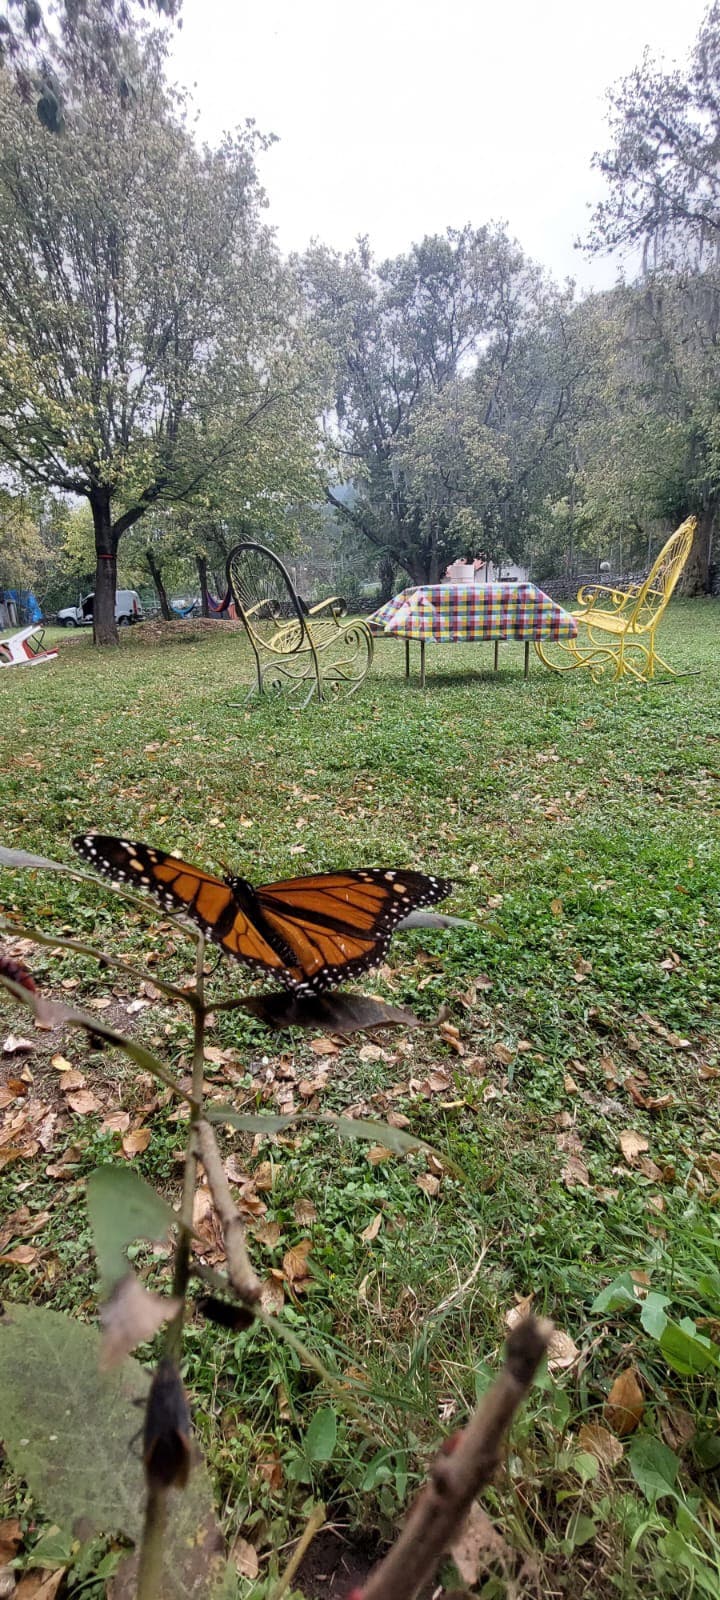
[{"label": "thick bare brown cut twig rising from bottom edge, right of centre", "polygon": [[502,1438],[547,1350],[552,1323],[526,1317],[512,1330],[506,1365],[451,1453],[434,1461],[392,1549],[362,1587],[362,1600],[414,1600],[459,1534],[475,1494],[490,1482]]}]

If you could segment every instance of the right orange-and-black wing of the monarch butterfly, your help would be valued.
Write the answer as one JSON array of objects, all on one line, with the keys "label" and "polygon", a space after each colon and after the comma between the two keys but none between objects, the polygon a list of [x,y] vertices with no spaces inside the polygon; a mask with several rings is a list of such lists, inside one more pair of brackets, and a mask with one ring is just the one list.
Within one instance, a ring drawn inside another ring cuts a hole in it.
[{"label": "right orange-and-black wing of the monarch butterfly", "polygon": [[283,982],[317,994],[384,960],[403,917],[445,899],[448,878],[422,872],[322,872],[254,890],[270,934],[294,955]]}]

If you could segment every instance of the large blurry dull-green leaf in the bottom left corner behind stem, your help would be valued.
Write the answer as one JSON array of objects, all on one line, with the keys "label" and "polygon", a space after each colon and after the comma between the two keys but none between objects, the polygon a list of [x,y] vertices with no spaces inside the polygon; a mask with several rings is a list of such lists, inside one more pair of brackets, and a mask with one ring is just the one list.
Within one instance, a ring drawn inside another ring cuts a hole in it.
[{"label": "large blurry dull-green leaf in the bottom left corner behind stem", "polygon": [[[46,1307],[8,1306],[0,1318],[0,1435],[13,1472],[61,1531],[82,1522],[85,1534],[136,1542],[146,1486],[134,1402],[144,1403],[149,1374],[131,1358],[99,1371],[99,1350],[96,1328]],[[198,1462],[187,1490],[170,1499],[157,1600],[210,1600],[224,1570],[213,1486]]]}]

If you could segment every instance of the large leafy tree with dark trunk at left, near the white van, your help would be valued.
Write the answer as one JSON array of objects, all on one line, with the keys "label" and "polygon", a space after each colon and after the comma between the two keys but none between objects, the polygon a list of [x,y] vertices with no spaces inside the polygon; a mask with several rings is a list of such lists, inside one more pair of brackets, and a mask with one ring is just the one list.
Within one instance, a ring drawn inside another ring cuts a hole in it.
[{"label": "large leafy tree with dark trunk at left, near the white van", "polygon": [[0,450],[24,482],[90,501],[102,642],[118,541],[150,506],[192,501],[243,454],[267,464],[280,437],[296,464],[315,456],[302,307],[261,214],[267,141],[248,123],[197,149],[158,37],[122,50],[120,109],[88,82],[51,134],[10,80],[0,104]]}]

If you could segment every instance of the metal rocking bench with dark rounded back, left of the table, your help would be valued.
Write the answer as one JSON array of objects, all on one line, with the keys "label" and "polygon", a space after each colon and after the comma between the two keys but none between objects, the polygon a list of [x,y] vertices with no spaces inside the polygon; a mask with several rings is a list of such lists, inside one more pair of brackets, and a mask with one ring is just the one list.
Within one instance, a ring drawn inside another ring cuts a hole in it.
[{"label": "metal rocking bench with dark rounded back, left of the table", "polygon": [[227,587],[245,622],[258,669],[258,694],[266,690],[302,694],[354,694],[373,661],[366,624],[346,618],[334,595],[307,606],[288,570],[264,544],[237,544],[227,557]]}]

